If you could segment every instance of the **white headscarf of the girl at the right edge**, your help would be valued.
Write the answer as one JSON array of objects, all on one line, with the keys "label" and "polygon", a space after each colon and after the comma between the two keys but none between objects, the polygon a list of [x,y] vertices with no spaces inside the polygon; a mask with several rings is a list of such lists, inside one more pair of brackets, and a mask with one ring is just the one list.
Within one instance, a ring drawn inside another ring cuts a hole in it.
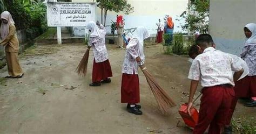
[{"label": "white headscarf of the girl at the right edge", "polygon": [[256,45],[256,24],[249,23],[245,27],[252,32],[252,36],[245,39],[245,46]]}]

